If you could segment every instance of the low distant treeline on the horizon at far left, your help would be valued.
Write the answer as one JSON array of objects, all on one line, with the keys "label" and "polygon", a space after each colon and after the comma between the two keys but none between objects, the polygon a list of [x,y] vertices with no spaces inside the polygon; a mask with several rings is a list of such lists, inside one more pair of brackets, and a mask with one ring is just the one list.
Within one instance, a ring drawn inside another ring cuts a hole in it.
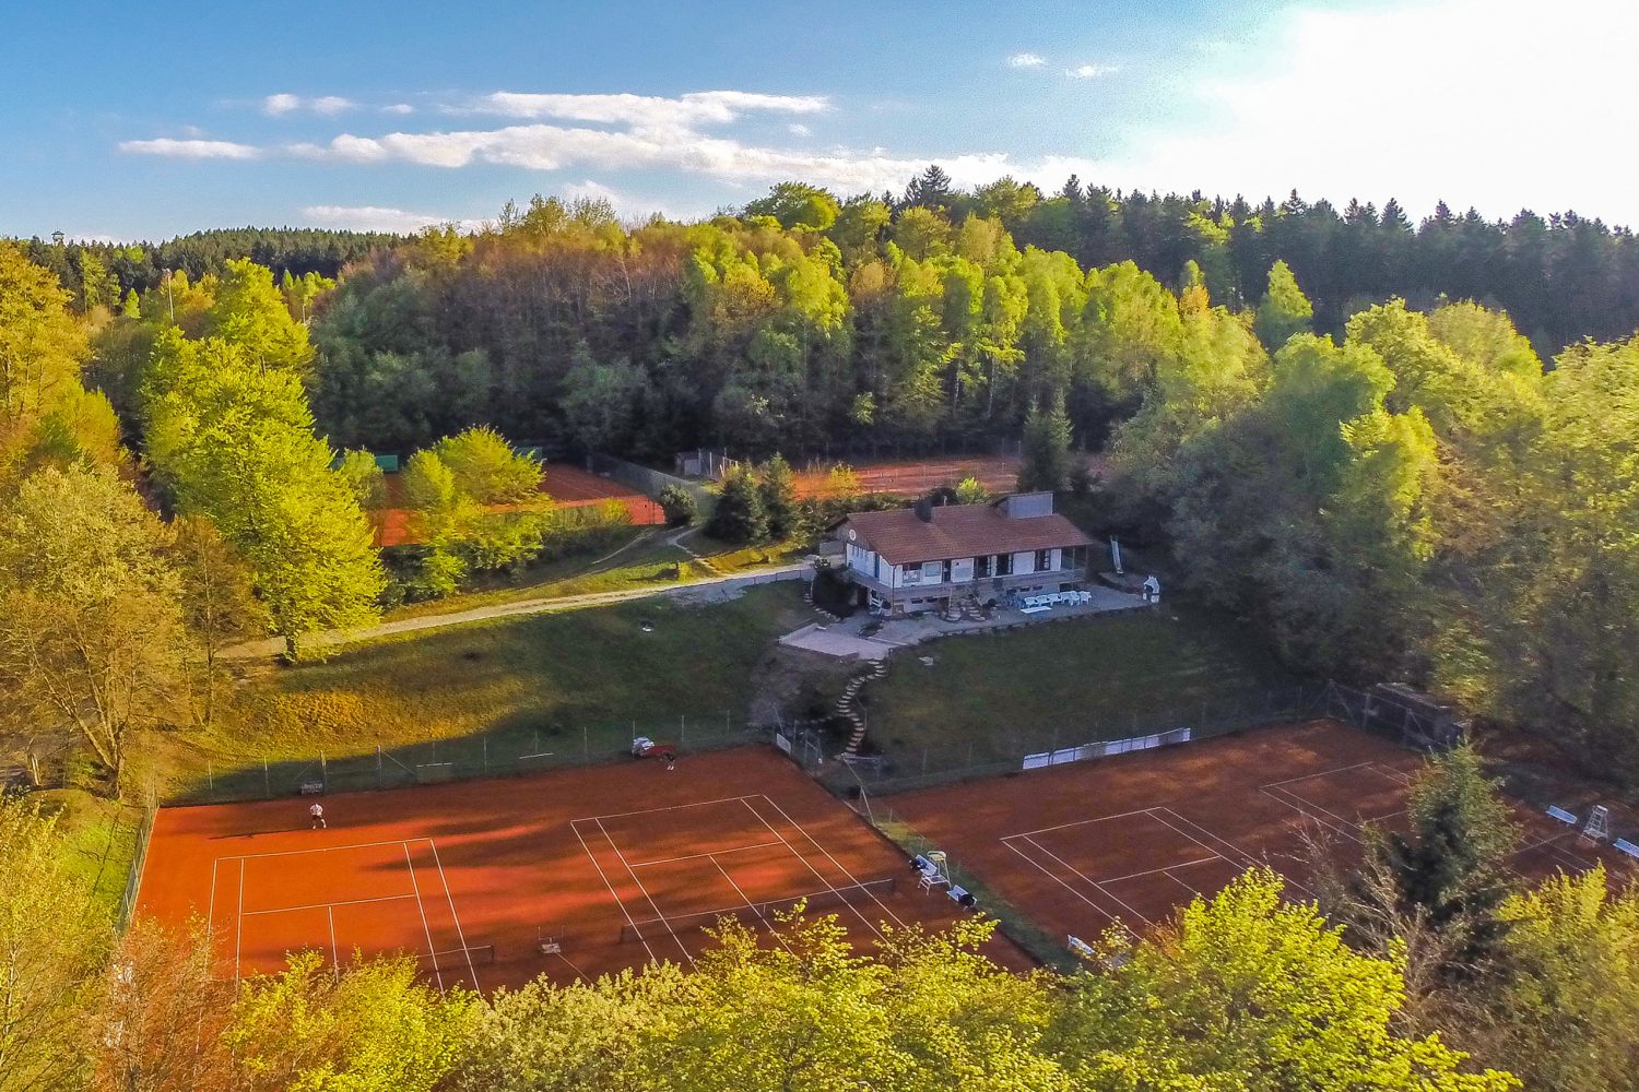
[{"label": "low distant treeline on the horizon at far left", "polygon": [[75,305],[87,309],[110,306],[133,288],[141,295],[157,287],[164,270],[182,270],[188,280],[198,280],[220,273],[229,259],[251,259],[274,270],[274,277],[288,272],[298,278],[305,273],[334,278],[347,262],[403,242],[403,236],[328,228],[221,228],[167,242],[59,244],[38,237],[21,242],[28,260],[56,273]]}]

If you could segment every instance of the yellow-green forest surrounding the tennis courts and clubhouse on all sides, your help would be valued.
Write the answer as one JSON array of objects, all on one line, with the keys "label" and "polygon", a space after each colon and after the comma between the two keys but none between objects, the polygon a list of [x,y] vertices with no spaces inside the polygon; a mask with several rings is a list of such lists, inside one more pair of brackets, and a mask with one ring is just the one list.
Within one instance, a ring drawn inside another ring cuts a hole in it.
[{"label": "yellow-green forest surrounding the tennis courts and clubhouse on all sides", "polygon": [[[1192,224],[1146,219],[1172,200],[928,172],[892,201],[785,183],[628,228],[538,198],[475,234],[343,241],[336,270],[229,254],[247,236],[146,282],[110,264],[90,295],[92,250],[0,244],[0,724],[70,735],[118,799],[133,748],[210,732],[228,642],[298,655],[379,617],[370,452],[415,452],[416,580],[449,591],[543,548],[516,444],[664,462],[1023,437],[1029,485],[1090,490],[1101,529],[1295,666],[1408,678],[1590,771],[1639,768],[1629,237],[1477,223],[1495,250],[1467,283],[1455,259],[1431,272],[1437,218],[1362,211],[1349,234],[1329,210],[1178,198],[1205,226],[1142,228]],[[1083,208],[1105,226],[1031,234]],[[1296,228],[1328,216],[1328,247],[1375,257],[1305,255]],[[1632,892],[1513,876],[1518,830],[1467,748],[1410,819],[1316,904],[1252,871],[1065,977],[1001,974],[960,930],[865,959],[821,918],[782,948],[724,927],[695,976],[475,999],[392,961],[233,992],[198,936],[120,933],[57,817],[7,797],[0,1089],[1629,1085]]]}]

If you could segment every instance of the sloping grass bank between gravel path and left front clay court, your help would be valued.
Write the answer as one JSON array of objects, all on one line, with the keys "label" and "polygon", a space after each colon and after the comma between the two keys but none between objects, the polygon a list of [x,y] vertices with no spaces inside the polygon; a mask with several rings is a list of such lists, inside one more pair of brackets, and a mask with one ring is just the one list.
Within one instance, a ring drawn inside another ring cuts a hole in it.
[{"label": "sloping grass bank between gravel path and left front clay court", "polygon": [[[266,668],[175,756],[174,783],[195,799],[284,794],[316,774],[320,755],[331,787],[425,778],[418,768],[441,763],[456,763],[452,776],[505,773],[543,751],[541,765],[611,756],[634,727],[687,748],[744,724],[752,668],[808,617],[787,583],[706,606],[646,599],[459,625]],[[392,751],[380,766],[377,747]]]}]

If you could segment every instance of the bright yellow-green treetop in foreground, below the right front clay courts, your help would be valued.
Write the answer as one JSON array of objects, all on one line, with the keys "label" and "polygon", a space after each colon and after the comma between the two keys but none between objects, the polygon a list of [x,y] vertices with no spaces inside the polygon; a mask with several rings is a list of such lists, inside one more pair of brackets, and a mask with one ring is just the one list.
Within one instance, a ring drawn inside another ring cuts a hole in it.
[{"label": "bright yellow-green treetop in foreground, below the right front clay courts", "polygon": [[1357,954],[1282,879],[1249,873],[1195,899],[1151,943],[1111,933],[1051,1045],[1077,1087],[1503,1090],[1437,1036],[1401,1038],[1398,956]]}]

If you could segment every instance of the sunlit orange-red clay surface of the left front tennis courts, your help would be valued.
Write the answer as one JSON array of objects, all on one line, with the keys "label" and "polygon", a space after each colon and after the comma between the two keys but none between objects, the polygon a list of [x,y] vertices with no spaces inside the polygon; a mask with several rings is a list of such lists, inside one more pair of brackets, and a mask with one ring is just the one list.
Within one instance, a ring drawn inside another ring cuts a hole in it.
[{"label": "sunlit orange-red clay surface of the left front tennis courts", "polygon": [[[161,810],[138,912],[208,922],[223,977],[277,971],[297,950],[343,964],[354,950],[403,951],[441,987],[484,990],[651,959],[688,966],[711,943],[698,915],[800,896],[860,950],[885,922],[941,927],[960,914],[764,748],[683,755],[670,773],[634,760],[339,794],[323,797],[326,830],[310,828],[313,799]],[[893,891],[860,887],[885,878]],[[546,936],[561,954],[539,951]],[[988,954],[1029,966],[1000,938]]]}]

